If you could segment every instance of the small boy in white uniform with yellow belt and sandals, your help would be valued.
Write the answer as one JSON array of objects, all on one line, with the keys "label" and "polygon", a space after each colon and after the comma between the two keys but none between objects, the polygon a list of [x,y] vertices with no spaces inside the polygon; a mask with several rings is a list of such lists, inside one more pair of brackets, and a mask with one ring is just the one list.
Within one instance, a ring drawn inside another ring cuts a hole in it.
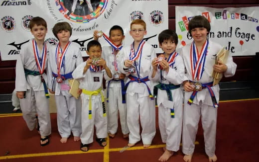
[{"label": "small boy in white uniform with yellow belt and sandals", "polygon": [[112,80],[113,76],[101,59],[102,47],[97,40],[87,44],[89,59],[80,64],[73,72],[73,78],[79,80],[79,88],[82,89],[82,134],[81,151],[87,152],[88,146],[93,142],[94,126],[96,127],[96,141],[100,146],[105,147],[107,142],[107,118],[102,90],[103,77],[105,80]]}]

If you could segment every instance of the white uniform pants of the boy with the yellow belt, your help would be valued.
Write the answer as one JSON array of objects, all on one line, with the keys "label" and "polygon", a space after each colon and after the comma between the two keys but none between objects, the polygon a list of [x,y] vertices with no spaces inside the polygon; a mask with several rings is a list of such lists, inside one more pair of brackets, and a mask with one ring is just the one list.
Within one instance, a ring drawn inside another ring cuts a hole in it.
[{"label": "white uniform pants of the boy with the yellow belt", "polygon": [[[93,142],[94,126],[96,129],[97,138],[107,137],[107,117],[104,117],[102,99],[92,96],[92,119],[89,119],[89,99],[88,95],[82,93],[82,134],[80,140],[83,144]],[[94,98],[94,99],[93,99]]]}]

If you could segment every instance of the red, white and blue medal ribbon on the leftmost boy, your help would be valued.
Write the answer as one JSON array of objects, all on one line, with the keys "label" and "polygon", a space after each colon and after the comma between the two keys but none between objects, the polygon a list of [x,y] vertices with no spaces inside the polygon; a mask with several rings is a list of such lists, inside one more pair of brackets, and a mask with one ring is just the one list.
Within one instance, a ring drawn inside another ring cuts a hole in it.
[{"label": "red, white and blue medal ribbon on the leftmost boy", "polygon": [[45,63],[46,63],[47,47],[46,47],[46,44],[44,43],[42,55],[41,55],[41,59],[40,59],[39,54],[38,54],[37,43],[34,39],[32,40],[32,45],[33,45],[33,53],[34,53],[36,65],[39,69],[40,75],[42,75],[44,73],[44,67],[45,67]]}]

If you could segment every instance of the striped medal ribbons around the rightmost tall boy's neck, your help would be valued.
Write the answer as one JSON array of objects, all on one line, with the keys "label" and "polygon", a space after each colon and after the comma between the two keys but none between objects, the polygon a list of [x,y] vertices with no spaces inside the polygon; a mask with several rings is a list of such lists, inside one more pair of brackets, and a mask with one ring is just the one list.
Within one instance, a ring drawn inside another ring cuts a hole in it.
[{"label": "striped medal ribbons around the rightmost tall boy's neck", "polygon": [[206,55],[208,52],[209,41],[206,40],[202,46],[201,52],[198,53],[198,49],[194,42],[192,42],[190,49],[191,58],[191,70],[192,70],[192,80],[200,80],[203,74],[203,69],[205,66]]}]

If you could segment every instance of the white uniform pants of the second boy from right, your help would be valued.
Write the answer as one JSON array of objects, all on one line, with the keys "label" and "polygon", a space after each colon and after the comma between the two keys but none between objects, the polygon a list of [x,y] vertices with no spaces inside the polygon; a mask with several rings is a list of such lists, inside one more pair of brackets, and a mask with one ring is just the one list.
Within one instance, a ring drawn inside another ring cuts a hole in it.
[{"label": "white uniform pants of the second boy from right", "polygon": [[174,118],[171,118],[170,108],[161,103],[158,107],[158,123],[162,142],[166,149],[177,152],[180,147],[183,120],[182,100],[174,102]]}]

